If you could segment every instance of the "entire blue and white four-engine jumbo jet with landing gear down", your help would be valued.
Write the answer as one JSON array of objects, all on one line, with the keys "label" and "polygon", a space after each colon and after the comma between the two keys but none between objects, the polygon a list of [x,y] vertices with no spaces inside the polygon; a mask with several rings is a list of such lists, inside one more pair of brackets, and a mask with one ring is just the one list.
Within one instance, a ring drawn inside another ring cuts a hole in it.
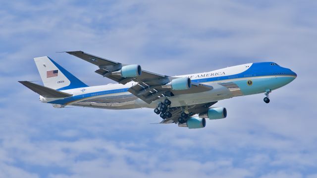
[{"label": "entire blue and white four-engine jumbo jet with landing gear down", "polygon": [[[55,108],[67,105],[104,109],[153,108],[160,123],[188,128],[206,126],[206,119],[223,119],[227,110],[212,107],[227,98],[264,93],[268,95],[297,75],[275,62],[257,62],[204,73],[167,76],[82,51],[66,52],[99,67],[95,72],[117,84],[88,86],[49,57],[34,58],[44,86],[19,81],[40,94],[40,101]],[[198,115],[197,117],[194,117]]]}]

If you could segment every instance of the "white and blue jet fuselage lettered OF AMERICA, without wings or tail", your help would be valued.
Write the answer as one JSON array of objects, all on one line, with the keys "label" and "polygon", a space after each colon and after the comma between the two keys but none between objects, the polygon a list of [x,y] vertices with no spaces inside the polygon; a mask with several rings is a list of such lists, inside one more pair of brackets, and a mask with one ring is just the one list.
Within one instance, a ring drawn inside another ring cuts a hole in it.
[{"label": "white and blue jet fuselage lettered OF AMERICA, without wings or tail", "polygon": [[[235,96],[270,92],[290,83],[297,75],[292,70],[281,67],[274,62],[257,62],[176,77],[188,77],[193,82],[212,86],[213,89],[201,93],[169,97],[172,103],[171,107],[189,106]],[[156,100],[151,104],[142,101],[128,92],[128,89],[135,84],[137,83],[129,82],[125,85],[107,84],[60,90],[73,96],[57,99],[41,96],[40,101],[51,103],[56,108],[73,105],[104,109],[135,109],[156,108],[158,103],[163,100],[162,97],[161,100]]]}]

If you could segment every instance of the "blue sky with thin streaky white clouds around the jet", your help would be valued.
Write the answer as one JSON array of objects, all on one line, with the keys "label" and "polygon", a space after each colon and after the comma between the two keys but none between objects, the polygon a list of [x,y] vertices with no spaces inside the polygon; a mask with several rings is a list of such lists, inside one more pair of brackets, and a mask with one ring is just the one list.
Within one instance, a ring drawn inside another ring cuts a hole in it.
[{"label": "blue sky with thin streaky white clouds around the jet", "polygon": [[[317,178],[316,0],[0,1],[0,178]],[[202,129],[150,124],[152,109],[55,109],[17,81],[42,84],[49,56],[86,84],[114,83],[81,50],[165,75],[274,61],[298,77],[219,101]]]}]

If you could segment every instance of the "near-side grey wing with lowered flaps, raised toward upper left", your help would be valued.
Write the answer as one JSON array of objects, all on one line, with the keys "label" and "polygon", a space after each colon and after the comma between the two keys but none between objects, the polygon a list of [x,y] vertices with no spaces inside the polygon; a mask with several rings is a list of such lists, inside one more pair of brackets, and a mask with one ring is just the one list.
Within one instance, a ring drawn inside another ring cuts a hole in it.
[{"label": "near-side grey wing with lowered flaps, raised toward upper left", "polygon": [[137,82],[137,84],[130,87],[128,91],[148,104],[159,99],[159,97],[161,96],[174,96],[179,94],[199,93],[209,91],[212,89],[211,86],[192,82],[192,86],[189,89],[172,90],[171,88],[164,87],[164,85],[171,82],[173,79],[176,79],[177,77],[161,75],[143,69],[142,74],[137,77],[123,77],[121,75],[115,75],[112,72],[120,70],[123,66],[127,64],[122,64],[112,60],[100,58],[94,55],[84,53],[82,51],[73,51],[66,53],[97,65],[99,69],[95,71],[96,73],[103,75],[104,77],[107,77],[109,79],[112,79],[118,83],[126,84],[130,81]]}]

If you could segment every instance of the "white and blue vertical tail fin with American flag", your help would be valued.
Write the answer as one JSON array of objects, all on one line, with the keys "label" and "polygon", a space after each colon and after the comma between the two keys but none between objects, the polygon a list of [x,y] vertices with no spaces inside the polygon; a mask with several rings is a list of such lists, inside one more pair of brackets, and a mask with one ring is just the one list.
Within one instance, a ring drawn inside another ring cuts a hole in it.
[{"label": "white and blue vertical tail fin with American flag", "polygon": [[49,57],[34,58],[44,86],[56,90],[88,87]]}]

